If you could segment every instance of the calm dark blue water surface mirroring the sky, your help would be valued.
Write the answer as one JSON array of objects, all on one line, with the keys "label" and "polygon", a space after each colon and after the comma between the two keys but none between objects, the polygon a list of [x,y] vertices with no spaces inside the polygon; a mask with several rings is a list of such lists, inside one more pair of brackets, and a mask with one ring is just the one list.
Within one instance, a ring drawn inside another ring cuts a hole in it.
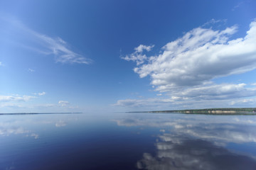
[{"label": "calm dark blue water surface mirroring the sky", "polygon": [[255,115],[0,115],[0,169],[256,169]]}]

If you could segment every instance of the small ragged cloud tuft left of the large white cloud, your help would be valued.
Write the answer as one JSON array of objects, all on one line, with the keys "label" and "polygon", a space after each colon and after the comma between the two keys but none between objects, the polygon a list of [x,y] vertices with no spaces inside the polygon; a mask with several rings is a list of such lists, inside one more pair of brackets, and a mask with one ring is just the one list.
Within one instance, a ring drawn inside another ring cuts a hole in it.
[{"label": "small ragged cloud tuft left of the large white cloud", "polygon": [[154,45],[139,45],[138,47],[135,47],[134,50],[135,52],[133,52],[130,55],[125,55],[124,57],[121,57],[123,60],[127,60],[127,61],[133,61],[136,62],[137,65],[144,63],[146,60],[148,60],[148,57],[146,57],[146,55],[142,55],[142,52],[144,50],[146,50],[147,52],[149,52],[152,48],[154,47]]}]

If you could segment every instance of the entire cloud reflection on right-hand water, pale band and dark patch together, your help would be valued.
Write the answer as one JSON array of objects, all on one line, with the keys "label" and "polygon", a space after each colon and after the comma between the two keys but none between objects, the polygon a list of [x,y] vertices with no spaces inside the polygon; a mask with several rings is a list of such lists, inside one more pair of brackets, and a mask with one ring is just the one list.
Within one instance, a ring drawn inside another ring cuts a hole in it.
[{"label": "entire cloud reflection on right-hand water, pale band and dark patch together", "polygon": [[254,116],[159,114],[114,121],[127,127],[159,128],[156,153],[145,152],[138,169],[186,170],[256,169],[256,155],[227,147],[249,142],[256,147],[255,120]]}]

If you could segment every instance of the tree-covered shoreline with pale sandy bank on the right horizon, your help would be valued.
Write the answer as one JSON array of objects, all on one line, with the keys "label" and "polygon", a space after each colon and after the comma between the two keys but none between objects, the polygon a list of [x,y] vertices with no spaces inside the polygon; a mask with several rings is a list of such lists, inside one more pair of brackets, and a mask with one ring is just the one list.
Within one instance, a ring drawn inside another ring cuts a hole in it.
[{"label": "tree-covered shoreline with pale sandy bank on the right horizon", "polygon": [[256,108],[203,108],[170,111],[132,111],[127,113],[186,113],[209,115],[256,115]]}]

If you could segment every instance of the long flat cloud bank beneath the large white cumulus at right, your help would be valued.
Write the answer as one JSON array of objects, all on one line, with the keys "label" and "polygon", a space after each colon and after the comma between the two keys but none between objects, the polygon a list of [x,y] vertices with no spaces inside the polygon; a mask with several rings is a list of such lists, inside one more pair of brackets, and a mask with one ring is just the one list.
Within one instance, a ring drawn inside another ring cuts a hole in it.
[{"label": "long flat cloud bank beneath the large white cumulus at right", "polygon": [[[256,88],[248,88],[246,84],[207,84],[191,88],[177,88],[169,96],[158,98],[127,98],[118,100],[112,106],[130,108],[213,108],[234,106],[252,106],[255,104]],[[169,91],[168,86],[158,86],[161,92]]]}]

